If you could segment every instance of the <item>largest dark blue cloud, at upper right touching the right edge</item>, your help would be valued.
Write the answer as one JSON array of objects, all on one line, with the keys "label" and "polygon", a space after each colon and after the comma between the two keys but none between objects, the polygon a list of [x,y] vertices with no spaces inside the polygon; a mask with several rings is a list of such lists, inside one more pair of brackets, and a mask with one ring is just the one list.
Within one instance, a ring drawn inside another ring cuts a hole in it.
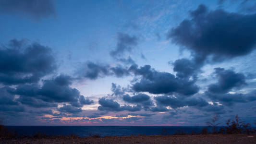
[{"label": "largest dark blue cloud, at upper right touching the right edge", "polygon": [[200,5],[190,16],[190,20],[172,28],[167,37],[191,50],[196,61],[221,61],[246,55],[256,48],[256,14],[208,11]]}]

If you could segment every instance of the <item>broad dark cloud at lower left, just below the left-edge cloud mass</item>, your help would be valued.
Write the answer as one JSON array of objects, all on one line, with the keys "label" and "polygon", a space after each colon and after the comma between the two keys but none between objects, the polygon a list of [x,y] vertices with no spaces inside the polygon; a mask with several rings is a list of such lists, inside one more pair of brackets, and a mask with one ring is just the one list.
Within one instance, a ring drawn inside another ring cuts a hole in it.
[{"label": "broad dark cloud at lower left, just below the left-edge cloud mass", "polygon": [[70,103],[73,107],[83,107],[93,101],[80,95],[71,88],[73,78],[61,74],[55,78],[44,80],[42,87],[37,84],[18,85],[12,93],[19,95],[19,101],[31,107],[56,107],[55,103]]}]

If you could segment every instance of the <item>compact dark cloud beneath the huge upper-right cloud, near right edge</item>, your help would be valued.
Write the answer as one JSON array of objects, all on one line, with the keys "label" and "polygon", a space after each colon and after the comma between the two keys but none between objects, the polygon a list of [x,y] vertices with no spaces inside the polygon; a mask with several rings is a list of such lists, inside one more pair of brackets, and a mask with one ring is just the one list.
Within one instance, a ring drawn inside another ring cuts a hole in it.
[{"label": "compact dark cloud beneath the huge upper-right cloud, near right edge", "polygon": [[223,68],[215,68],[214,70],[218,83],[210,84],[208,87],[208,91],[213,94],[224,94],[232,90],[232,88],[240,88],[246,85],[243,73],[235,73],[232,70]]}]

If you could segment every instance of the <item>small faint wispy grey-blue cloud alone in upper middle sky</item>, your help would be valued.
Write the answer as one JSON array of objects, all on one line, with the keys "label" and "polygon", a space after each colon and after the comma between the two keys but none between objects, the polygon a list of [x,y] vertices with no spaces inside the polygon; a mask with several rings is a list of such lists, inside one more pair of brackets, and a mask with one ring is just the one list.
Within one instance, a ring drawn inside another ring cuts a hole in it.
[{"label": "small faint wispy grey-blue cloud alone in upper middle sky", "polygon": [[126,51],[131,52],[133,47],[138,44],[138,38],[136,36],[118,33],[117,38],[118,42],[116,49],[110,51],[110,55],[114,58],[122,56]]}]

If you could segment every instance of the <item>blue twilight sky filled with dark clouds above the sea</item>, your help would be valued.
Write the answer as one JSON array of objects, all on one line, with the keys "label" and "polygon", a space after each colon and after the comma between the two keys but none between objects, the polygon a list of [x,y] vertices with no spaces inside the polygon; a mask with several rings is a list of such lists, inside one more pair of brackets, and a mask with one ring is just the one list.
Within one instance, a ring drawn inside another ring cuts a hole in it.
[{"label": "blue twilight sky filled with dark clouds above the sea", "polygon": [[0,120],[254,123],[255,25],[255,0],[0,0]]}]

